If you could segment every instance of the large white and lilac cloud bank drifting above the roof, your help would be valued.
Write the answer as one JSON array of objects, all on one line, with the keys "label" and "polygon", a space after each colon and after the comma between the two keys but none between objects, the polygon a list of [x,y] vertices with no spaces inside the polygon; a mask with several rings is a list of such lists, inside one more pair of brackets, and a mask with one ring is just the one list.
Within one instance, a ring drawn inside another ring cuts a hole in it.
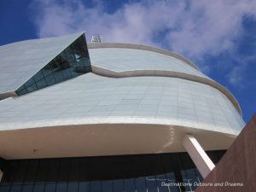
[{"label": "large white and lilac cloud bank drifting above the roof", "polygon": [[256,1],[142,0],[109,14],[101,0],[92,7],[82,0],[34,0],[31,9],[40,38],[80,31],[90,38],[100,33],[104,42],[152,44],[201,61],[205,55],[236,49],[234,39],[243,32],[244,16],[256,16]]}]

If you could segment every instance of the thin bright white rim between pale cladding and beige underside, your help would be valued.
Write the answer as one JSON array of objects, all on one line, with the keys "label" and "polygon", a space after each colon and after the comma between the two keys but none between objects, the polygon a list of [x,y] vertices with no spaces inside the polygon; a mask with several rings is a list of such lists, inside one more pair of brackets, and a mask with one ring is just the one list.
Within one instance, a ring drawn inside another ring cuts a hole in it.
[{"label": "thin bright white rim between pale cladding and beige underside", "polygon": [[91,118],[68,118],[68,119],[47,119],[27,122],[1,123],[1,131],[37,129],[41,127],[72,126],[72,125],[166,125],[168,127],[186,127],[201,131],[219,132],[231,136],[238,136],[240,131],[220,125],[199,123],[187,119],[171,118],[148,118],[148,117],[91,117]]}]

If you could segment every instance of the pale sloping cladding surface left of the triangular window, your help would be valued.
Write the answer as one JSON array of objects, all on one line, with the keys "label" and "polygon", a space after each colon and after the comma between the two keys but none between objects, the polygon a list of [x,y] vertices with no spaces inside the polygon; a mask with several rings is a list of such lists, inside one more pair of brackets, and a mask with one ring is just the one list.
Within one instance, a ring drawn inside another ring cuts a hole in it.
[{"label": "pale sloping cladding surface left of the triangular window", "polygon": [[0,46],[0,95],[14,92],[84,32]]}]

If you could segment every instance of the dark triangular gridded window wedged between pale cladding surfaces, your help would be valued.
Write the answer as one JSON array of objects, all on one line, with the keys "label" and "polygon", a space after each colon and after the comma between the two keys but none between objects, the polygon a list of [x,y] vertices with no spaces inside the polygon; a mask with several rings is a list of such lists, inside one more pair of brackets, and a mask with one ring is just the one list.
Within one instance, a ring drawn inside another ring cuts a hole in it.
[{"label": "dark triangular gridded window wedged between pale cladding surfaces", "polygon": [[25,84],[21,85],[16,93],[19,96],[24,95],[90,71],[90,57],[85,37],[82,35],[31,79],[28,79]]}]

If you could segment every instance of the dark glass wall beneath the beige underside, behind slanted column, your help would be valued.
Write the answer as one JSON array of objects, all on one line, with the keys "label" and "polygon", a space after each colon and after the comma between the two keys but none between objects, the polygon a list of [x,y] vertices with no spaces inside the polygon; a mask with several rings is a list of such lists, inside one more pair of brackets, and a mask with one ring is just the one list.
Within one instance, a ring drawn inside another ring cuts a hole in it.
[{"label": "dark glass wall beneath the beige underside, behind slanted column", "polygon": [[[224,151],[208,154],[217,163]],[[187,153],[5,160],[2,170],[1,192],[180,192],[202,180]]]}]

